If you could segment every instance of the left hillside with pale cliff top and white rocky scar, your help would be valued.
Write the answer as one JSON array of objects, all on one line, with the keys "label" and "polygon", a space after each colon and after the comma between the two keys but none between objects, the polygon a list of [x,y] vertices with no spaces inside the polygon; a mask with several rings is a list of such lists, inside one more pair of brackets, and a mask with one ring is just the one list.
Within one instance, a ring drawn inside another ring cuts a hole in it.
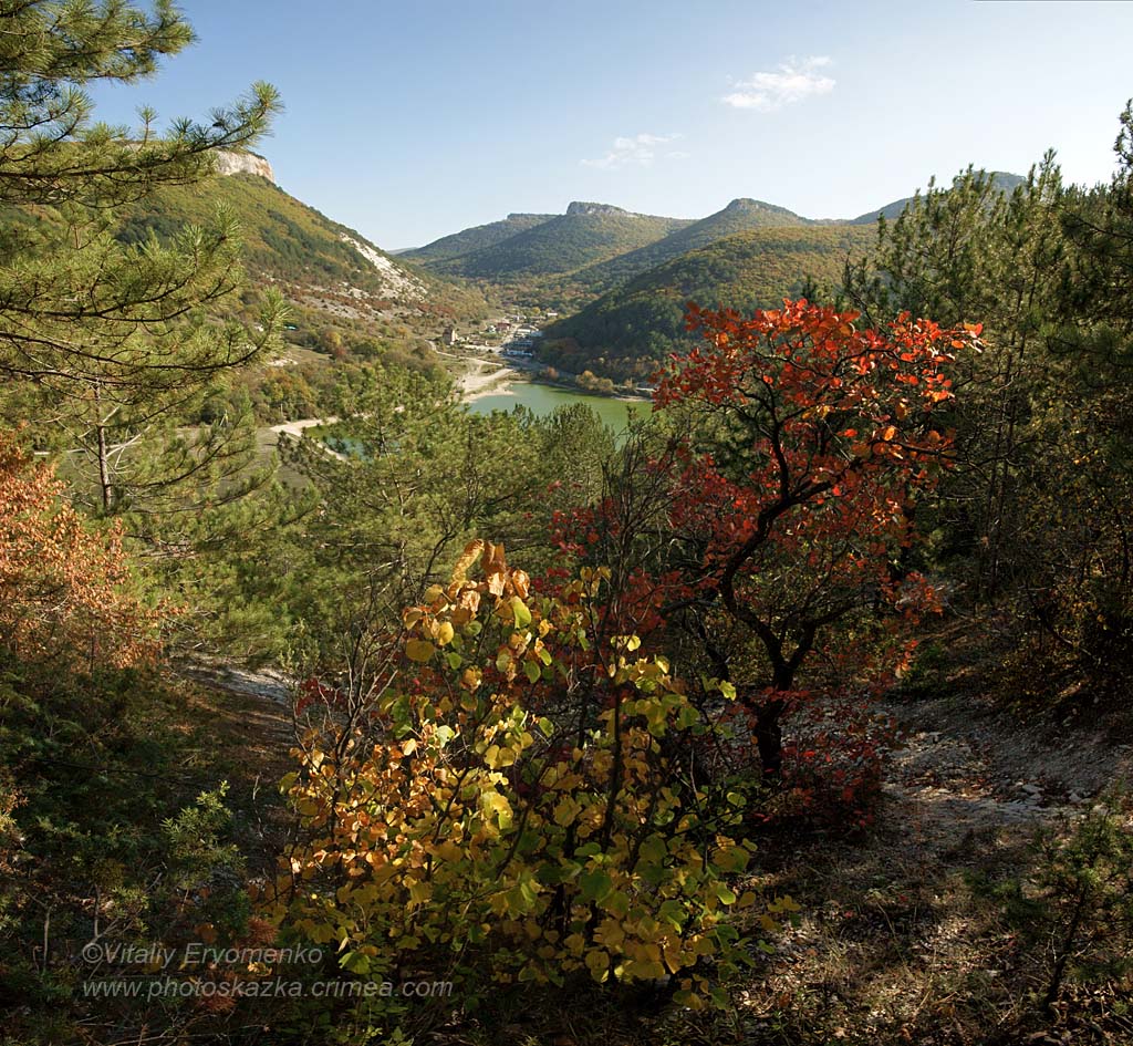
[{"label": "left hillside with pale cliff top and white rocky scar", "polygon": [[168,243],[186,224],[206,227],[218,210],[240,236],[247,286],[218,315],[254,323],[266,288],[282,292],[288,323],[282,354],[231,375],[193,419],[211,422],[250,409],[279,424],[340,414],[380,380],[375,365],[429,372],[441,360],[432,342],[450,325],[476,323],[488,304],[460,280],[397,261],[355,229],[239,172],[195,185],[167,185],[122,212],[127,245],[155,236]]}]

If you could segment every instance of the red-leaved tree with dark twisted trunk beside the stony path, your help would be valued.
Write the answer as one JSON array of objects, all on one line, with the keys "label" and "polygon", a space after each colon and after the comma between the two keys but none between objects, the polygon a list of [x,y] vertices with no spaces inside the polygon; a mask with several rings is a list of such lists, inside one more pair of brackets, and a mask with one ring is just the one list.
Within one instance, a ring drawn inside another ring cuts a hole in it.
[{"label": "red-leaved tree with dark twisted trunk beside the stony path", "polygon": [[750,318],[690,305],[702,342],[655,394],[675,436],[561,530],[582,558],[632,550],[624,589],[648,598],[630,602],[683,632],[735,694],[770,775],[810,655],[857,657],[877,681],[893,666],[878,632],[896,637],[937,603],[908,552],[917,503],[948,461],[932,418],[952,397],[948,365],[979,329],[903,315],[872,331],[857,318],[806,300]]}]

